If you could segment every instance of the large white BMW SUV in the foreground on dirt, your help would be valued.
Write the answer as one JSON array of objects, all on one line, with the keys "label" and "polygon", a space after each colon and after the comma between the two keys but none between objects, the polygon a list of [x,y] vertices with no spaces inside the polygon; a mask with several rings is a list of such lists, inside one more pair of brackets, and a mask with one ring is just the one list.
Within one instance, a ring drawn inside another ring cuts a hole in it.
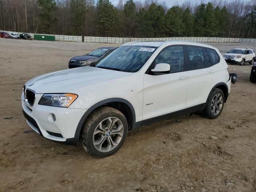
[{"label": "large white BMW SUV in the foreground on dirt", "polygon": [[127,132],[201,111],[217,118],[230,93],[218,49],[194,42],[132,42],[92,66],[38,76],[24,85],[22,109],[41,136],[82,142],[93,156],[114,154]]}]

